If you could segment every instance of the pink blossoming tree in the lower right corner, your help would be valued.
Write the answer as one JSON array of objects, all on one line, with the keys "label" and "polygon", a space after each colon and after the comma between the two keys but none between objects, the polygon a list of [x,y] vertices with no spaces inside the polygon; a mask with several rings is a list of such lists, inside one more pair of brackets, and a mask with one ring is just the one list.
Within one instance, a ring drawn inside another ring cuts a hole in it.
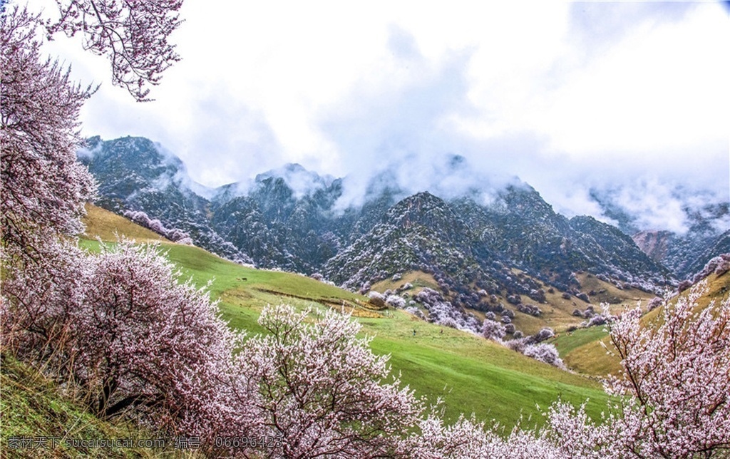
[{"label": "pink blossoming tree in the lower right corner", "polygon": [[631,396],[621,430],[645,456],[703,455],[730,448],[730,300],[699,309],[705,283],[645,325],[640,310],[611,325],[623,377],[608,386]]}]

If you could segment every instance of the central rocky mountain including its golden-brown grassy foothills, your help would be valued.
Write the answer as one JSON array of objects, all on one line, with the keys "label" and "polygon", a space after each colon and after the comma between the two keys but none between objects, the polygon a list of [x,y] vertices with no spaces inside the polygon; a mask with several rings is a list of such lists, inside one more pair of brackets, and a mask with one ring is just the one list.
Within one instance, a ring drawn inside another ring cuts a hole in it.
[{"label": "central rocky mountain including its golden-brown grassy foothills", "polygon": [[[386,297],[396,296],[388,298],[392,304],[475,333],[481,332],[483,313],[496,315],[513,325],[509,334],[577,325],[583,317],[573,311],[585,310],[590,296],[620,303],[628,288],[653,290],[666,282],[666,270],[618,229],[590,217],[556,215],[534,190],[527,191],[526,204],[515,205],[519,196],[506,197],[504,205],[492,207],[472,199],[447,203],[426,192],[404,198],[331,258],[323,274],[351,290],[377,285]],[[592,284],[576,274],[579,270],[596,274],[605,286],[581,292],[583,283]],[[435,285],[425,293],[411,291],[410,284],[398,281],[403,274],[431,277]],[[604,295],[612,284],[624,293]]]}]

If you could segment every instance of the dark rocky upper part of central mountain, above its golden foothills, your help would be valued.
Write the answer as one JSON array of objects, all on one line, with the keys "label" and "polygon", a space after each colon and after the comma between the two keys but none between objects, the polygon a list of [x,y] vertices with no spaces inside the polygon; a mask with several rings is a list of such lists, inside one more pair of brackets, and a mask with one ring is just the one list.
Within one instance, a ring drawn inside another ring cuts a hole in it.
[{"label": "dark rocky upper part of central mountain, above its golden foothills", "polygon": [[576,271],[646,290],[671,279],[618,228],[592,217],[568,220],[528,186],[507,187],[489,205],[473,198],[447,203],[427,192],[404,198],[331,258],[324,274],[360,288],[393,274],[423,271],[480,309],[479,296],[472,296],[478,290],[497,295],[539,290],[537,282],[515,277],[512,269],[561,290],[580,288]]}]

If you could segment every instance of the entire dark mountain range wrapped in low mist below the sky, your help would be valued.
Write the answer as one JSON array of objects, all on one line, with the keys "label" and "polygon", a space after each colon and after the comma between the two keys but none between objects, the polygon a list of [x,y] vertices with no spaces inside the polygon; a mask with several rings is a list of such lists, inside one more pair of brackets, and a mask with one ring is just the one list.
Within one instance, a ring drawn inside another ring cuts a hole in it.
[{"label": "entire dark mountain range wrapped in low mist below the sky", "polygon": [[[516,177],[489,180],[459,155],[414,164],[410,177],[383,169],[368,174],[366,185],[353,185],[359,177],[322,177],[288,164],[215,189],[193,182],[179,158],[144,138],[96,137],[79,157],[99,181],[99,205],[119,214],[146,212],[226,258],[320,273],[353,290],[423,271],[453,292],[457,305],[477,308],[477,290],[539,290],[512,269],[561,290],[580,290],[575,273],[588,271],[616,285],[659,291],[728,251],[730,240],[721,231],[727,203],[683,209],[692,222],[683,234],[634,236],[636,220],[618,199],[596,194],[618,226],[568,218]],[[419,172],[439,169],[442,184],[419,190]]]}]

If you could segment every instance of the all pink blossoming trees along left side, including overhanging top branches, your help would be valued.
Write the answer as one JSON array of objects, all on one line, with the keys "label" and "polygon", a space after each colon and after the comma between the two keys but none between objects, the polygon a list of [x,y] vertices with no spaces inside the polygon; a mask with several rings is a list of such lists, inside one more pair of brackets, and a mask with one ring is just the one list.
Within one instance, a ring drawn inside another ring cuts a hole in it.
[{"label": "all pink blossoming trees along left side, including overhanging top branches", "polygon": [[230,411],[226,386],[213,381],[232,358],[231,332],[151,249],[125,243],[93,256],[77,247],[96,188],[75,155],[93,88],[44,58],[37,34],[81,32],[90,49],[111,54],[115,82],[136,75],[128,88],[142,99],[145,82],[174,61],[161,44],[180,2],[58,6],[53,26],[26,8],[0,9],[1,348],[41,365],[101,416],[133,412],[170,431],[200,429]]}]

